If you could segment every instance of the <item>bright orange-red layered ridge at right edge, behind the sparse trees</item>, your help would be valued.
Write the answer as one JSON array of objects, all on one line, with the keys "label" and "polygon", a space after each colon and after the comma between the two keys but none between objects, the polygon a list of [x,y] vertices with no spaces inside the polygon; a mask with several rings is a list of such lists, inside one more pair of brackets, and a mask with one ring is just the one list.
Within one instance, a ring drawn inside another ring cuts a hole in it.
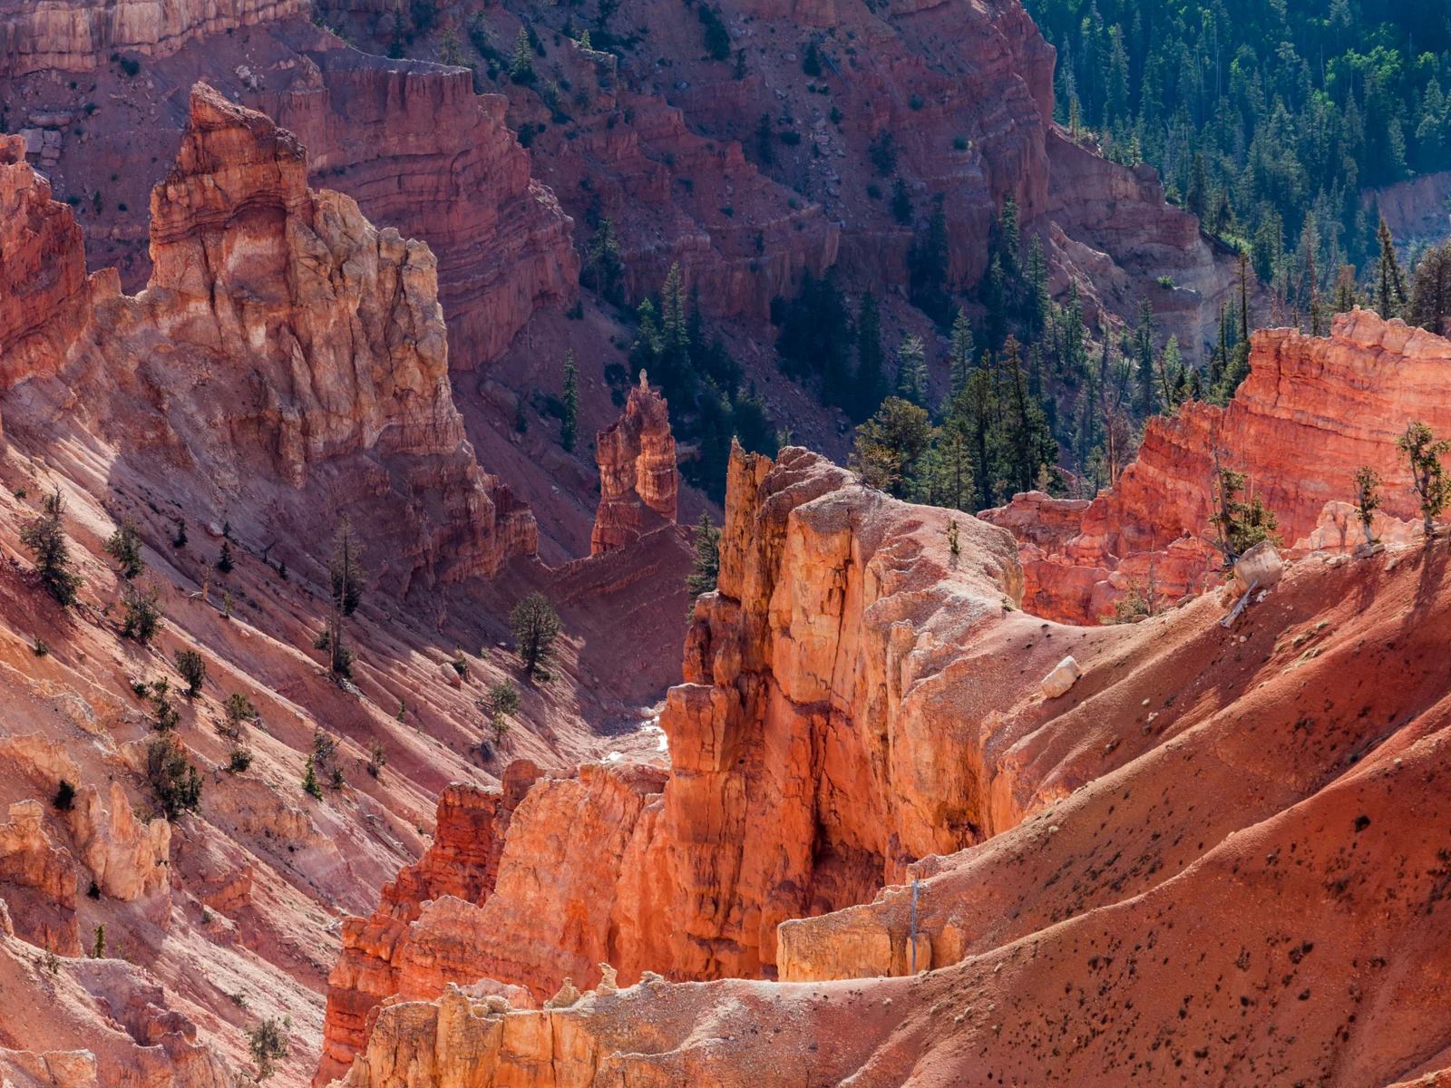
[{"label": "bright orange-red layered ridge at right edge, behind the sparse trees", "polygon": [[[1329,337],[1255,332],[1249,366],[1228,408],[1191,402],[1149,421],[1138,460],[1081,511],[1019,496],[982,514],[1020,541],[1024,608],[1096,622],[1130,583],[1148,589],[1152,577],[1170,601],[1213,585],[1220,564],[1204,541],[1216,454],[1275,512],[1287,544],[1312,544],[1326,505],[1354,496],[1361,466],[1384,480],[1383,516],[1416,519],[1396,438],[1412,419],[1451,432],[1451,397],[1439,392],[1451,342],[1355,309],[1335,316]],[[1042,516],[1027,514],[1035,505]],[[1077,531],[1065,528],[1074,516]]]}]

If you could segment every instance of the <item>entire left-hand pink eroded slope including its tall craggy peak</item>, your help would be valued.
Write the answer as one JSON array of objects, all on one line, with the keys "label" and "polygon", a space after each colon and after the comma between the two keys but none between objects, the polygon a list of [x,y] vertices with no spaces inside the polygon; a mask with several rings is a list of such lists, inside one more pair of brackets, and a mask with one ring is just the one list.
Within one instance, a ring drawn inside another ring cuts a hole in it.
[{"label": "entire left-hand pink eroded slope including its tall craggy peak", "polygon": [[[0,1008],[0,1068],[16,1084],[231,1088],[244,1030],[289,1015],[277,1079],[300,1084],[342,917],[425,853],[450,780],[485,788],[511,759],[573,765],[611,744],[596,725],[663,688],[679,628],[637,611],[681,615],[688,548],[673,527],[640,541],[653,595],[588,560],[563,574],[554,679],[521,685],[512,728],[490,734],[490,686],[519,679],[490,650],[512,603],[556,579],[527,554],[528,508],[464,440],[428,248],[309,190],[292,133],[199,86],[152,194],[152,283],[128,296],[113,271],[84,276],[71,210],[17,144],[0,144],[0,236],[6,273],[35,276],[6,284],[0,392],[0,986],[44,997]],[[71,609],[19,540],[57,493]],[[315,648],[341,514],[369,569],[350,685]],[[135,586],[106,551],[122,521],[147,564]],[[136,589],[165,615],[149,644],[123,637]],[[180,651],[206,664],[193,698]],[[171,823],[147,776],[160,680],[202,785]],[[250,765],[222,733],[231,695],[258,715],[237,727]],[[311,757],[321,796],[303,788]],[[467,854],[451,818],[434,856]],[[102,944],[106,959],[77,959]]]}]

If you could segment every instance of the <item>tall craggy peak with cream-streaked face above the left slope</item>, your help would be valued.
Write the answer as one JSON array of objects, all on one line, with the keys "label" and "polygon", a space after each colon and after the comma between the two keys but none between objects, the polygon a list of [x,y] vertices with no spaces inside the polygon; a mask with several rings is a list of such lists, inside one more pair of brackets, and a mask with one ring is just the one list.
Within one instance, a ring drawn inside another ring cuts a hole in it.
[{"label": "tall craggy peak with cream-streaked face above the left slope", "polygon": [[[351,514],[371,527],[374,579],[399,595],[492,574],[534,550],[534,522],[464,438],[437,263],[306,176],[292,133],[193,87],[152,191],[151,284],[131,297],[113,271],[93,276],[80,328],[52,322],[65,335],[10,383],[57,411],[86,389],[87,422],[205,466],[218,506],[270,505],[274,524],[321,535]],[[32,437],[54,429],[28,415]]]}]

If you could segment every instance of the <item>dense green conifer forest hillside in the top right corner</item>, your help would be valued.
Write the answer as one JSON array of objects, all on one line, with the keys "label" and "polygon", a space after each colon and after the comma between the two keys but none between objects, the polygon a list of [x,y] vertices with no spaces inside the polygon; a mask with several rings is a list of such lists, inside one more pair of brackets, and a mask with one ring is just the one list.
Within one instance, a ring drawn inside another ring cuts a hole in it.
[{"label": "dense green conifer forest hillside in the top right corner", "polygon": [[[1451,6],[1436,0],[1027,0],[1056,119],[1249,247],[1302,312],[1378,258],[1361,190],[1451,168]],[[1309,273],[1309,274],[1307,274]],[[1306,297],[1299,297],[1304,294]]]}]

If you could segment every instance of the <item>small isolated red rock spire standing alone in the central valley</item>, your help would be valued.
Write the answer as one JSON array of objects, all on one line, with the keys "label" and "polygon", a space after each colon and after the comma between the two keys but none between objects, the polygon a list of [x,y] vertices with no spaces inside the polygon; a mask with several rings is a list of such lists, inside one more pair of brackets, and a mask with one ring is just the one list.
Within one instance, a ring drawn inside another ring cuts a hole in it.
[{"label": "small isolated red rock spire standing alone in the central valley", "polygon": [[646,384],[630,390],[624,415],[595,438],[599,464],[599,511],[589,551],[622,548],[675,521],[681,474],[665,399]]}]

